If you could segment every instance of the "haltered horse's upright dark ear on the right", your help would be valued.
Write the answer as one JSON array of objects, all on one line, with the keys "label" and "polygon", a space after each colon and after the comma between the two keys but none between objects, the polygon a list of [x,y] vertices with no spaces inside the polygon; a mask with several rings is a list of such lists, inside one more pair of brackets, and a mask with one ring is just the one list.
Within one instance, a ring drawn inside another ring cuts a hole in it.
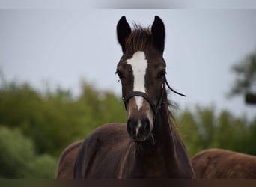
[{"label": "haltered horse's upright dark ear on the right", "polygon": [[153,44],[156,46],[156,49],[159,49],[162,53],[165,48],[165,25],[159,16],[155,16],[151,32],[153,36]]}]

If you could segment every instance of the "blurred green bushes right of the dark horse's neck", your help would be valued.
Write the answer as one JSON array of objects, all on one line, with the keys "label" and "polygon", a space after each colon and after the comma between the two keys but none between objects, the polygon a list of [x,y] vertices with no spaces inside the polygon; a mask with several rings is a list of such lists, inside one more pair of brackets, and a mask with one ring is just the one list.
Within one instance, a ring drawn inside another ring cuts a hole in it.
[{"label": "blurred green bushes right of the dark horse's neck", "polygon": [[248,121],[228,111],[216,114],[213,106],[186,110],[177,118],[189,156],[213,147],[256,155],[256,118]]}]

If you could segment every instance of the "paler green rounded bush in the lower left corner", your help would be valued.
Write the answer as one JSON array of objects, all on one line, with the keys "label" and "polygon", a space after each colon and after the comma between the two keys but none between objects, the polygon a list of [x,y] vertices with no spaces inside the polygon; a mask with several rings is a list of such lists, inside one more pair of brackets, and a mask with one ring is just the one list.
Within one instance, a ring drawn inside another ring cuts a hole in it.
[{"label": "paler green rounded bush in the lower left corner", "polygon": [[34,144],[19,129],[0,126],[0,176],[5,178],[53,177],[56,160],[52,156],[38,156]]}]

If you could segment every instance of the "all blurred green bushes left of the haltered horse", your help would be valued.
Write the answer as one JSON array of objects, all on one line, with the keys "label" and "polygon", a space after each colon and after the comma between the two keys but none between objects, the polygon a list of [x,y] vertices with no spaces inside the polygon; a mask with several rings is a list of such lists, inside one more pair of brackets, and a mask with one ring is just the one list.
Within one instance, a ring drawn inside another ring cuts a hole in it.
[{"label": "all blurred green bushes left of the haltered horse", "polygon": [[7,128],[1,129],[0,148],[6,152],[0,153],[5,163],[0,164],[1,177],[53,178],[57,158],[68,144],[103,123],[126,120],[119,96],[86,82],[81,87],[74,97],[61,88],[41,93],[28,84],[1,85],[0,127]]}]

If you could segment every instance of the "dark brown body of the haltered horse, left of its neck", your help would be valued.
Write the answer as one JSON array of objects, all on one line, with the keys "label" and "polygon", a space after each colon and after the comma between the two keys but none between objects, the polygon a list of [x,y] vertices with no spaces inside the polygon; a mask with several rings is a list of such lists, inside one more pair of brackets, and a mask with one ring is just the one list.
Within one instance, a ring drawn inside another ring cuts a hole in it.
[{"label": "dark brown body of the haltered horse, left of its neck", "polygon": [[125,124],[109,123],[95,129],[79,149],[74,178],[116,178],[128,142]]}]

